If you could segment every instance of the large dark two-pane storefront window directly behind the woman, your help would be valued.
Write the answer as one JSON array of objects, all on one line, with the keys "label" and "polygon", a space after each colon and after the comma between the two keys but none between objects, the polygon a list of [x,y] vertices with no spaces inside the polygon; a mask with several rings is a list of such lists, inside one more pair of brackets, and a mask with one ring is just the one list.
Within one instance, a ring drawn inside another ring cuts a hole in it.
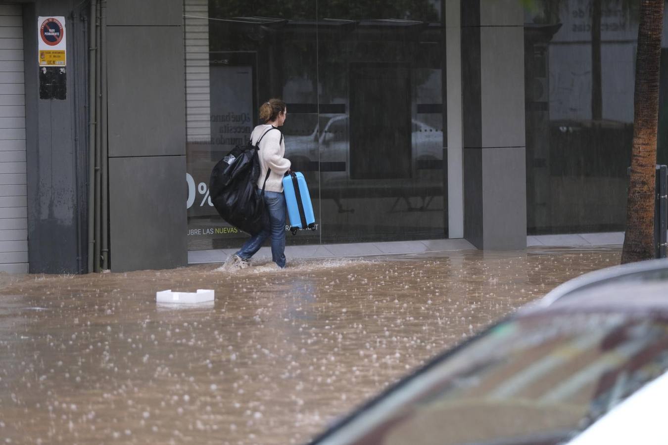
[{"label": "large dark two-pane storefront window directly behind the woman", "polygon": [[288,244],[447,236],[440,0],[185,3],[191,250],[246,237],[206,184],[269,97],[287,103],[285,156],[318,224]]}]

